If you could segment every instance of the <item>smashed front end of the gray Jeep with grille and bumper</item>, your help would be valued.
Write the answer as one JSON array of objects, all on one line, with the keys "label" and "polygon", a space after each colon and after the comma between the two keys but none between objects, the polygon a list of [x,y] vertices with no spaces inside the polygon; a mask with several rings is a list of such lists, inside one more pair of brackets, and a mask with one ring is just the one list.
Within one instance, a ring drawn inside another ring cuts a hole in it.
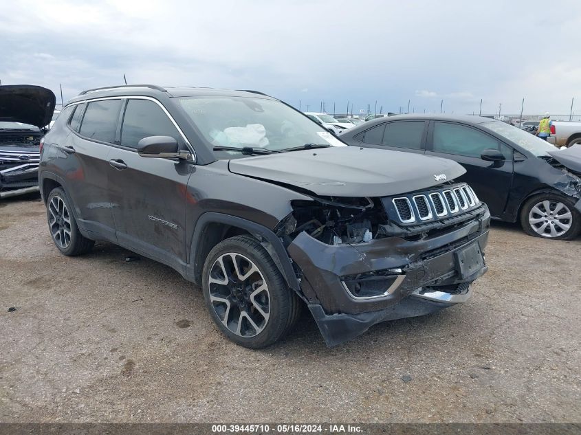
[{"label": "smashed front end of the gray Jeep with grille and bumper", "polygon": [[490,213],[464,183],[394,197],[293,201],[276,228],[329,346],[464,302],[487,269]]}]

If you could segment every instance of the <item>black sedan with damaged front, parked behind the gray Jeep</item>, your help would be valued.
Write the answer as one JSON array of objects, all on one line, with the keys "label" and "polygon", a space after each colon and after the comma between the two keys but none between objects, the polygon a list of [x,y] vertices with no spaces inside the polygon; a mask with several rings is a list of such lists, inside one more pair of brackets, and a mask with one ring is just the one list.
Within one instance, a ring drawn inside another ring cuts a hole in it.
[{"label": "black sedan with damaged front, parked behind the gray Jeep", "polygon": [[457,161],[466,168],[460,180],[470,183],[494,219],[520,221],[532,236],[571,239],[581,232],[581,146],[558,150],[479,116],[397,115],[365,122],[340,138]]}]

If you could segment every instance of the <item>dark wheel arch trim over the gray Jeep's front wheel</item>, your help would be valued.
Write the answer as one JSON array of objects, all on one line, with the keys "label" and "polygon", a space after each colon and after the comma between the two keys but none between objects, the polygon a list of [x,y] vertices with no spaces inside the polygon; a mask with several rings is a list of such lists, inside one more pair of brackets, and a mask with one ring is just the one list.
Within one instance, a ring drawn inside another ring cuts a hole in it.
[{"label": "dark wheel arch trim over the gray Jeep's front wheel", "polygon": [[202,214],[195,225],[188,261],[190,267],[193,267],[195,282],[201,283],[204,262],[212,248],[226,238],[241,234],[256,238],[271,256],[287,285],[302,295],[286,249],[272,230],[247,219],[217,212]]}]

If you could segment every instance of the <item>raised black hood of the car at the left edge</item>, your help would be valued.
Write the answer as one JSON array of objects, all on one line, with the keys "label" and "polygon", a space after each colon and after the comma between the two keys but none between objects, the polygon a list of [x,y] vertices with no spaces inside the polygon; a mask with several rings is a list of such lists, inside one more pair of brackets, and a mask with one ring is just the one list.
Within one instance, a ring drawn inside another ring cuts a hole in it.
[{"label": "raised black hood of the car at the left edge", "polygon": [[0,86],[0,121],[23,122],[42,129],[52,118],[55,102],[54,93],[40,86]]}]

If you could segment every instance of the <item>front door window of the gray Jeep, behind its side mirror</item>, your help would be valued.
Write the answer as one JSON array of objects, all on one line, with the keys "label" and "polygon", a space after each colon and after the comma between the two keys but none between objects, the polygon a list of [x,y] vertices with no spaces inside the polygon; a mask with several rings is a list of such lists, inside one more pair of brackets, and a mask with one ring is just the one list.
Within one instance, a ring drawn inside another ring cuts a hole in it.
[{"label": "front door window of the gray Jeep, behind its side mirror", "polygon": [[171,136],[179,142],[179,132],[162,108],[149,100],[129,100],[121,127],[121,145],[137,148],[148,136]]}]

